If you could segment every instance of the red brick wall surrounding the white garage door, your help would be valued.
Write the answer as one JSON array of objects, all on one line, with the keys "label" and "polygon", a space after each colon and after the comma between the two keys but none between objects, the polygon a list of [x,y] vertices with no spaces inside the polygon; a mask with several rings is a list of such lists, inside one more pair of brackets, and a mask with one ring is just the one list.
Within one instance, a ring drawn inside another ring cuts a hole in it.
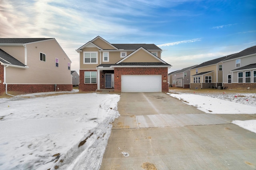
[{"label": "red brick wall surrounding the white garage door", "polygon": [[[168,68],[123,67],[115,68],[114,73],[114,87],[116,92],[121,91],[121,75],[162,75],[162,92],[168,92]],[[164,77],[166,78],[164,79]],[[163,80],[166,80],[166,82],[163,82]]]}]

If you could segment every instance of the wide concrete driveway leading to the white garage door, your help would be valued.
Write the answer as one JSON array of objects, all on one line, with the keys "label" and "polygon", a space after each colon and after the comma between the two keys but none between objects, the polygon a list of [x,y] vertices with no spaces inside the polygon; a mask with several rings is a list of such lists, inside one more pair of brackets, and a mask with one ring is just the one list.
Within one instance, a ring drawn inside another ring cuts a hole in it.
[{"label": "wide concrete driveway leading to the white garage door", "polygon": [[102,170],[256,169],[256,134],[165,93],[121,93]]}]

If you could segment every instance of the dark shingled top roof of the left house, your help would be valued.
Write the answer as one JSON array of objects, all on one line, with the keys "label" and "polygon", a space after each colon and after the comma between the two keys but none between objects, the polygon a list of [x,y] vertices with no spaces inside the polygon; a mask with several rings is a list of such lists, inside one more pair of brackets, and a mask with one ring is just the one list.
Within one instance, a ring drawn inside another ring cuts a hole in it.
[{"label": "dark shingled top roof of the left house", "polygon": [[0,38],[0,43],[23,44],[23,43],[38,42],[38,41],[50,40],[50,39],[53,39],[53,38]]}]

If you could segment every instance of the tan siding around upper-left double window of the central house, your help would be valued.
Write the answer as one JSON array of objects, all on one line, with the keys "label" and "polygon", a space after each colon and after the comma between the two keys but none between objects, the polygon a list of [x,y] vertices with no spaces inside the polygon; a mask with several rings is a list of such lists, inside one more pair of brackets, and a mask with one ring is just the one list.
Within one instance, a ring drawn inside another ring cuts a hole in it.
[{"label": "tan siding around upper-left double window of the central house", "polygon": [[[98,51],[98,63],[97,64],[84,64],[84,51]],[[96,69],[100,65],[100,52],[96,47],[85,47],[80,52],[80,69]]]}]

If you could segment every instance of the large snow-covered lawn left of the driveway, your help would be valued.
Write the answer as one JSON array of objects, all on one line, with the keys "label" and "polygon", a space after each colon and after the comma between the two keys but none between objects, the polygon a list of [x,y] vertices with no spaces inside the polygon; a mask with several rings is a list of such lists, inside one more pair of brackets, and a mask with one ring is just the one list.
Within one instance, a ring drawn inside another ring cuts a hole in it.
[{"label": "large snow-covered lawn left of the driveway", "polygon": [[99,169],[120,95],[53,94],[0,98],[1,170]]}]

